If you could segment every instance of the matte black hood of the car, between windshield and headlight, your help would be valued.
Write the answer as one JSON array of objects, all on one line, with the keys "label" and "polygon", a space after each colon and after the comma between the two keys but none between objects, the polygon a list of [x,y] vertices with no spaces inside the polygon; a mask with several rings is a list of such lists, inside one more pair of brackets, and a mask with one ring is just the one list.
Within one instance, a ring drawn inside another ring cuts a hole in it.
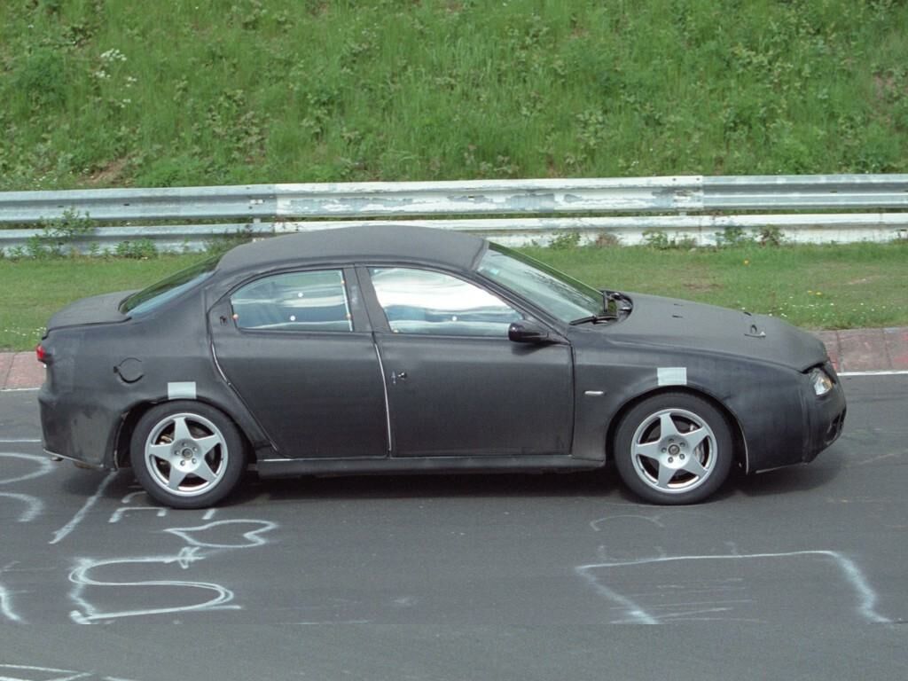
[{"label": "matte black hood of the car, between windshield and headlight", "polygon": [[744,356],[799,371],[826,360],[821,341],[775,317],[643,293],[626,295],[634,303],[630,315],[598,327],[614,341]]}]

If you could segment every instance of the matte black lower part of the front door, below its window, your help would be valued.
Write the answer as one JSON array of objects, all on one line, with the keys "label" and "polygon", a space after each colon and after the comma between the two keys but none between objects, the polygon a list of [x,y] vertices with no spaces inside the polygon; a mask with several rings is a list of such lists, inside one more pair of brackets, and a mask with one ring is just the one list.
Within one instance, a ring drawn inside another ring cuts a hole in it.
[{"label": "matte black lower part of the front door, below its window", "polygon": [[376,339],[389,380],[394,456],[569,453],[567,345],[394,333]]}]

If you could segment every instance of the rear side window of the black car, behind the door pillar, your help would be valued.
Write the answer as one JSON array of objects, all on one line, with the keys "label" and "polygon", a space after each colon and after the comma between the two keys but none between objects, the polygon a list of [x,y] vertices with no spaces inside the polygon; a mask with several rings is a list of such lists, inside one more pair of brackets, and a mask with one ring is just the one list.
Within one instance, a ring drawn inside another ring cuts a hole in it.
[{"label": "rear side window of the black car, behind the door pillar", "polygon": [[353,331],[341,270],[273,274],[231,296],[240,329]]}]

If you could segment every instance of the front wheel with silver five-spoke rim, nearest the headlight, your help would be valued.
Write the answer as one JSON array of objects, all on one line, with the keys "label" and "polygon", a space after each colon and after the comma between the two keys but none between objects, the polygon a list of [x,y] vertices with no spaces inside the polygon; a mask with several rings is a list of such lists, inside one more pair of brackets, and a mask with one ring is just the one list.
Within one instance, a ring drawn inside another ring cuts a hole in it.
[{"label": "front wheel with silver five-spoke rim, nearest the headlight", "polygon": [[621,419],[614,458],[621,479],[637,496],[654,504],[694,504],[728,478],[733,449],[731,426],[721,411],[696,395],[664,392]]}]

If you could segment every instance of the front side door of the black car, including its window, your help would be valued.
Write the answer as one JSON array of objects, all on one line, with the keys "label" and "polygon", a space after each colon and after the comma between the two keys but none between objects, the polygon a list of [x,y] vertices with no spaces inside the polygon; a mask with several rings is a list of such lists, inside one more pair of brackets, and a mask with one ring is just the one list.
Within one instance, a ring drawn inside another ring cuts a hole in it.
[{"label": "front side door of the black car, including its window", "polygon": [[366,277],[393,456],[569,453],[567,341],[508,341],[509,324],[526,315],[450,272],[370,267]]}]

